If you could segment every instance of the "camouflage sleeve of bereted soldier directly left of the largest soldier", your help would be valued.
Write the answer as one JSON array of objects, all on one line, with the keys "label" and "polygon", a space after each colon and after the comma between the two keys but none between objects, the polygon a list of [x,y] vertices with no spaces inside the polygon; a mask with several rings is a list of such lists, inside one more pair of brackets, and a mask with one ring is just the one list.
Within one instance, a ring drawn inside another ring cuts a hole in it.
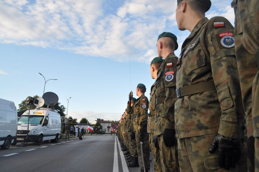
[{"label": "camouflage sleeve of bereted soldier directly left of the largest soldier", "polygon": [[[167,59],[168,58],[168,59]],[[165,101],[164,113],[161,114],[166,119],[165,128],[174,129],[174,103],[177,99],[176,96],[176,57],[167,57],[164,66],[164,83],[165,83]],[[173,60],[172,58],[175,58]]]}]

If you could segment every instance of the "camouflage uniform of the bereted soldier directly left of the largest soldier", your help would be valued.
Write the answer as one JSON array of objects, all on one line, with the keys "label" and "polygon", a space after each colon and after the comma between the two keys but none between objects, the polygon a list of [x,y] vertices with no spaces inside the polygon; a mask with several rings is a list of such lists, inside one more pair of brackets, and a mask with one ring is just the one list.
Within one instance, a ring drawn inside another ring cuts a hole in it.
[{"label": "camouflage uniform of the bereted soldier directly left of the largest soldier", "polygon": [[175,129],[174,125],[174,102],[176,96],[176,62],[177,57],[170,53],[164,59],[156,79],[157,105],[155,109],[154,135],[158,136],[160,159],[163,171],[179,171],[177,143],[167,147],[163,141],[165,128]]}]

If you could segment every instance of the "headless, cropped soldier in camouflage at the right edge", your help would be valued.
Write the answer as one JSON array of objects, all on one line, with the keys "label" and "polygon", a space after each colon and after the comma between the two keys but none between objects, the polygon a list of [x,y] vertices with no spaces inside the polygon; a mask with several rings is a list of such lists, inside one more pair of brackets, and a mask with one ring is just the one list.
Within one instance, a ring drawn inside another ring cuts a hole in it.
[{"label": "headless, cropped soldier in camouflage at the right edge", "polygon": [[[256,170],[259,171],[259,147],[254,147],[254,137],[256,140],[259,139],[259,17],[257,14],[259,1],[233,0],[231,6],[235,11],[235,50],[246,115],[248,155],[252,167],[254,168],[255,165]],[[254,152],[257,153],[255,161]]]}]

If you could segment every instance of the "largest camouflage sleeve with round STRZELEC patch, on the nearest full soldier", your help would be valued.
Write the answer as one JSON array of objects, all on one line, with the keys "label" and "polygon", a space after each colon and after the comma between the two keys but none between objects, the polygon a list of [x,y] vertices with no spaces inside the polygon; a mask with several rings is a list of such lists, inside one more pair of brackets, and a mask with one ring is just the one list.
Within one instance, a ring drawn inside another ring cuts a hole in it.
[{"label": "largest camouflage sleeve with round STRZELEC patch, on the nearest full soldier", "polygon": [[207,34],[212,77],[221,107],[218,133],[226,137],[242,138],[244,126],[241,121],[244,118],[244,110],[236,65],[233,26],[223,17],[220,21],[223,21],[225,27],[213,28],[214,21],[212,31]]}]

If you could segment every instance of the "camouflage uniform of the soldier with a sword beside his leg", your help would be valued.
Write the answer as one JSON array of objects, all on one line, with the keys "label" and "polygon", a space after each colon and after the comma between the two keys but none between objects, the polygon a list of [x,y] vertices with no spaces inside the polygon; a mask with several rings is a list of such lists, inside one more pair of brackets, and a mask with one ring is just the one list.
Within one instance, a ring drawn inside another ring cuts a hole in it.
[{"label": "camouflage uniform of the soldier with a sword beside his leg", "polygon": [[[140,138],[139,138],[139,130],[141,127],[147,126],[147,114],[148,114],[148,106],[149,101],[147,97],[142,94],[139,98],[137,98],[137,101],[133,105],[133,117],[134,117],[134,131],[136,136],[136,143],[137,143],[137,152],[140,156],[141,161],[141,169],[143,169],[143,162],[142,162],[142,156],[141,156],[141,148],[140,148]],[[149,136],[147,132],[144,132],[143,135],[143,156],[144,156],[144,163],[145,163],[145,169],[149,171],[150,169],[150,162],[149,162]]]}]

